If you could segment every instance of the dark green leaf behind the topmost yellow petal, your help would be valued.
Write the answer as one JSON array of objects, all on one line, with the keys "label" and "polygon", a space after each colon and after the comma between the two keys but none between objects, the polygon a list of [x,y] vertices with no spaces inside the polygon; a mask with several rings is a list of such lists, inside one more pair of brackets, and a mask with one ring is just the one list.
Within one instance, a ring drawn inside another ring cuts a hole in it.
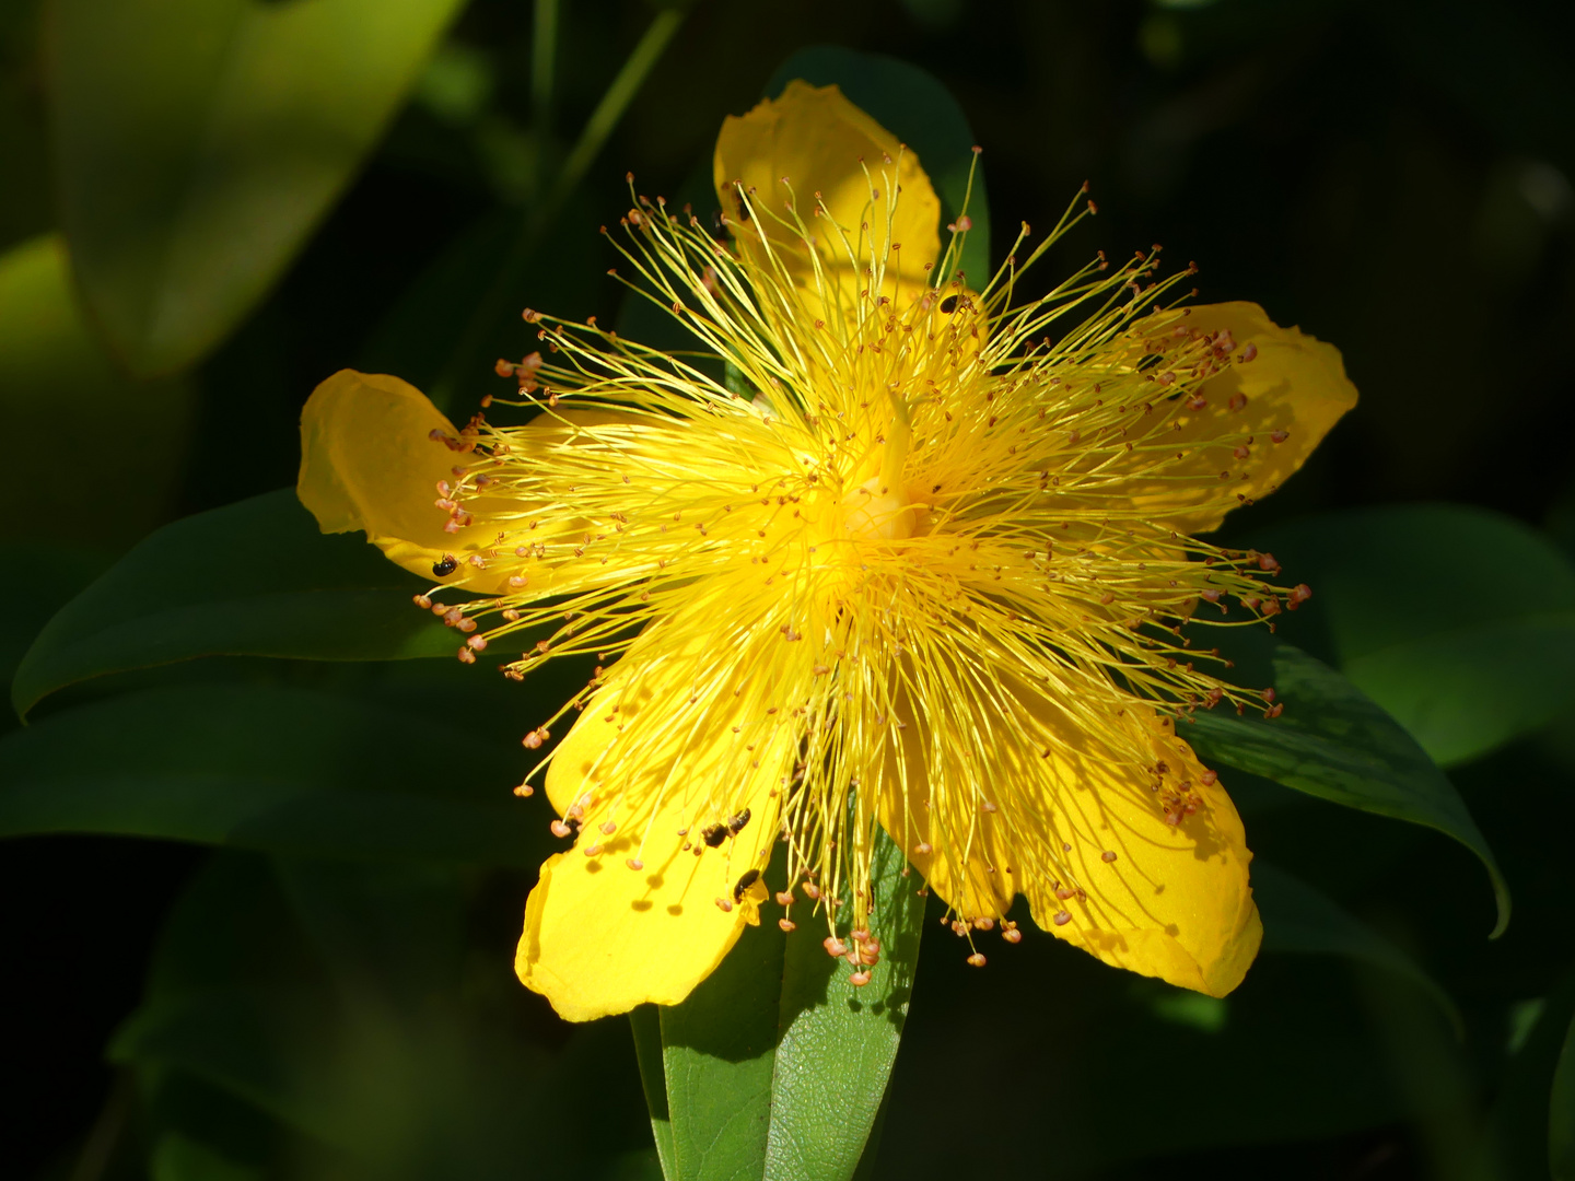
[{"label": "dark green leaf behind the topmost yellow petal", "polygon": [[[967,231],[961,269],[972,287],[983,287],[991,276],[989,197],[984,168],[975,168],[973,145],[978,140],[951,93],[918,66],[841,46],[800,49],[772,74],[765,94],[776,98],[794,79],[814,87],[841,87],[854,106],[918,153],[918,162],[940,197],[942,250],[948,241],[945,227],[962,213],[967,198],[973,228]],[[972,197],[967,195],[969,168],[975,168]]]}]

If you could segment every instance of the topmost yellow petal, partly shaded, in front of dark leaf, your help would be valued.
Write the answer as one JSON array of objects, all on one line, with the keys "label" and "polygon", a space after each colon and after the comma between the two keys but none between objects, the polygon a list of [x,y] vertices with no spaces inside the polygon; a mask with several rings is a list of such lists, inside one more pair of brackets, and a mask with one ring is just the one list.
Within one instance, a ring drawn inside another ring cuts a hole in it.
[{"label": "topmost yellow petal, partly shaded, in front of dark leaf", "polygon": [[[748,115],[728,117],[717,139],[713,178],[740,246],[748,249],[764,230],[773,250],[800,272],[808,260],[799,235],[776,220],[792,224],[789,200],[819,242],[822,258],[833,263],[882,258],[890,241],[901,247],[901,274],[917,282],[926,274],[925,265],[940,257],[940,200],[918,156],[836,87],[811,87],[795,79],[781,98],[762,101]],[[895,178],[901,189],[895,211],[887,178]],[[734,181],[743,184],[761,213],[753,225],[742,222]],[[817,205],[824,206],[819,217]]]}]

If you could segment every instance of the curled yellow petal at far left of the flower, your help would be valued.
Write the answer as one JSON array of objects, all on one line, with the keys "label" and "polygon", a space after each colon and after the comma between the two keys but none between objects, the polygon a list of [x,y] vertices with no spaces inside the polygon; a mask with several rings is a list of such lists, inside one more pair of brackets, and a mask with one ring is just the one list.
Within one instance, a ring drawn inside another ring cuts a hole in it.
[{"label": "curled yellow petal at far left of the flower", "polygon": [[[394,562],[424,578],[452,554],[458,565],[449,586],[491,592],[504,575],[466,559],[493,539],[468,526],[444,532],[449,515],[438,509],[438,482],[454,482],[454,468],[476,463],[432,431],[458,438],[452,422],[419,389],[383,373],[343,368],[321,383],[301,411],[301,474],[296,494],[326,534],[361,529]],[[493,531],[496,532],[496,531]]]}]

